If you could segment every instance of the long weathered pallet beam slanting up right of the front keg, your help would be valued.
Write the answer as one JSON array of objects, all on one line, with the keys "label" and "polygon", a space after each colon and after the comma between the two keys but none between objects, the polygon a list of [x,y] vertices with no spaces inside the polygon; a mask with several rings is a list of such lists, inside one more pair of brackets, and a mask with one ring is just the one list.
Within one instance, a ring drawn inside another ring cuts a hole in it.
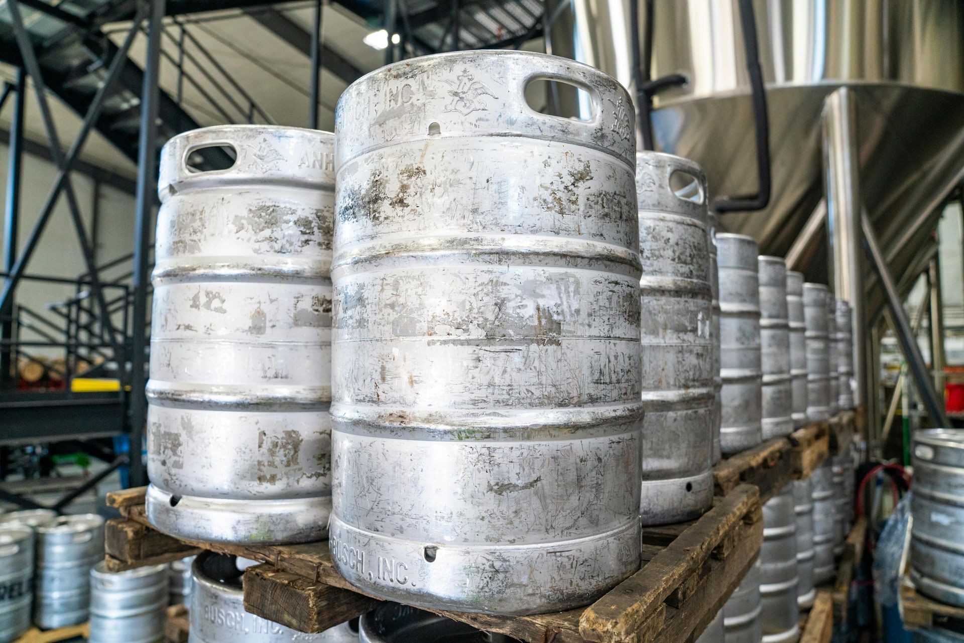
[{"label": "long weathered pallet beam slanting up right of the front keg", "polygon": [[760,507],[760,494],[755,487],[736,487],[639,572],[587,607],[579,620],[582,637],[590,641],[621,641],[638,635],[644,623],[661,629],[662,623],[651,618],[666,598],[703,565],[736,523],[749,514],[754,514],[751,522],[761,520]]}]

